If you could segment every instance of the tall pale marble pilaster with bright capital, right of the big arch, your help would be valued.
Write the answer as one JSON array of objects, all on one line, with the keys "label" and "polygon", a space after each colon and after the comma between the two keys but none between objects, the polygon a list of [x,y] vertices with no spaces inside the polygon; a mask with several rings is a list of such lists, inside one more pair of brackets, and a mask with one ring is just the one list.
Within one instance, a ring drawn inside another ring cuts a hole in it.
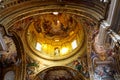
[{"label": "tall pale marble pilaster with bright capital, right of the big arch", "polygon": [[114,19],[114,14],[115,14],[115,9],[116,9],[116,4],[117,4],[118,0],[111,0],[111,4],[109,7],[109,11],[108,11],[108,17],[106,20],[104,20],[101,24],[100,24],[100,29],[99,29],[99,33],[98,33],[98,42],[97,44],[100,46],[104,46],[105,43],[105,38],[107,36],[107,29],[111,26],[113,19]]}]

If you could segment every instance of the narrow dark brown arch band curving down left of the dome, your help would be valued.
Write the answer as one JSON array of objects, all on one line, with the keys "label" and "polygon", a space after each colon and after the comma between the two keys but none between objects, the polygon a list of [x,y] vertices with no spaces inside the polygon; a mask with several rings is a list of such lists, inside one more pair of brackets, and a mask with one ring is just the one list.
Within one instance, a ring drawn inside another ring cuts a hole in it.
[{"label": "narrow dark brown arch band curving down left of the dome", "polygon": [[[11,32],[11,34],[12,34],[11,37],[12,37],[12,39],[16,45],[16,49],[17,49],[17,60],[15,62],[15,66],[14,66],[14,71],[16,72],[15,79],[25,80],[25,75],[26,75],[26,73],[25,73],[26,72],[25,57],[26,56],[24,53],[24,48],[23,48],[20,37],[15,32]],[[10,69],[12,70],[12,67]]]}]

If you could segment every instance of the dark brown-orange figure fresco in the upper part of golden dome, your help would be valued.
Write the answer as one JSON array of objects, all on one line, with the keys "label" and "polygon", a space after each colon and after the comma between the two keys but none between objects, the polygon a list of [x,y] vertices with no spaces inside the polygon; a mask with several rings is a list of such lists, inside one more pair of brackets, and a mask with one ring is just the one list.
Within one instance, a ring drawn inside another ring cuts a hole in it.
[{"label": "dark brown-orange figure fresco in the upper part of golden dome", "polygon": [[[37,16],[34,27],[38,33],[47,37],[65,38],[74,31],[77,25],[75,19],[70,14],[45,14]],[[63,35],[64,34],[64,35]]]}]

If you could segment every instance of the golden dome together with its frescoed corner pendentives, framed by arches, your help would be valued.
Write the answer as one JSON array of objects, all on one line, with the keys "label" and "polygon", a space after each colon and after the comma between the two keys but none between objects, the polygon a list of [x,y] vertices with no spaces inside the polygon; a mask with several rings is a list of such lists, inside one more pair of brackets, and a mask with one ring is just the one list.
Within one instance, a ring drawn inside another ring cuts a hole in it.
[{"label": "golden dome together with its frescoed corner pendentives, framed by arches", "polygon": [[24,46],[27,79],[33,80],[41,70],[58,65],[71,67],[88,79],[85,36],[96,26],[92,20],[74,14],[53,12],[19,20],[8,31],[19,36]]}]

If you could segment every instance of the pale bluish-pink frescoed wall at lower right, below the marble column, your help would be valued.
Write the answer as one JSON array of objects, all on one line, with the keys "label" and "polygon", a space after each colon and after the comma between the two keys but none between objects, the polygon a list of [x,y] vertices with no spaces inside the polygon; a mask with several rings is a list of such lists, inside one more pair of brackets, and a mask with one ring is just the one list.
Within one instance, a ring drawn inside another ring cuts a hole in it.
[{"label": "pale bluish-pink frescoed wall at lower right, below the marble column", "polygon": [[95,33],[90,54],[94,80],[115,80],[115,52],[112,49],[105,48],[97,44],[98,35]]}]

